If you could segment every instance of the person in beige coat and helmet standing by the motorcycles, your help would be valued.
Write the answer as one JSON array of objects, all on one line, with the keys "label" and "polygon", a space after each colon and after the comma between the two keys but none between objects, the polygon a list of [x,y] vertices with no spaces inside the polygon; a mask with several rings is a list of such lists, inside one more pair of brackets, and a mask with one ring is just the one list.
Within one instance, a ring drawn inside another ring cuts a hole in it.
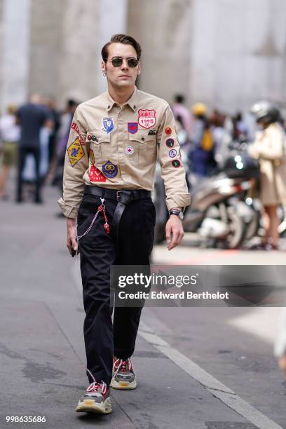
[{"label": "person in beige coat and helmet standing by the motorcycles", "polygon": [[267,101],[252,106],[252,114],[261,130],[249,147],[251,156],[259,160],[259,198],[264,206],[265,235],[261,248],[278,249],[278,205],[286,203],[285,131],[278,122],[280,111]]}]

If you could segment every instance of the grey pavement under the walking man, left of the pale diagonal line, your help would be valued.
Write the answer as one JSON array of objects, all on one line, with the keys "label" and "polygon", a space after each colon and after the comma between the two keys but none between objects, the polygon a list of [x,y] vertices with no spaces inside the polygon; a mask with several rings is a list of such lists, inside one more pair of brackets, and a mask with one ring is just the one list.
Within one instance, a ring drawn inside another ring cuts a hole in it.
[{"label": "grey pavement under the walking man, left of the pale diagonal line", "polygon": [[[48,188],[45,197],[43,206],[0,203],[0,428],[12,424],[5,416],[16,415],[46,416],[36,424],[56,429],[255,428],[144,335],[134,356],[138,388],[112,390],[111,415],[74,412],[87,387],[83,304],[65,222],[55,217],[57,192]],[[142,322],[148,325],[146,315]]]}]

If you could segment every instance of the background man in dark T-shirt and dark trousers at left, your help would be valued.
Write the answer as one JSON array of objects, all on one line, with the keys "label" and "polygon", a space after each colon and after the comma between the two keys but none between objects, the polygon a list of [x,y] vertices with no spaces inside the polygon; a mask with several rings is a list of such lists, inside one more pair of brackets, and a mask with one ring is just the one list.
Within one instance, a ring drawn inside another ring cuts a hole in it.
[{"label": "background man in dark T-shirt and dark trousers at left", "polygon": [[20,107],[17,112],[17,123],[20,125],[20,140],[18,151],[18,183],[16,202],[22,202],[22,172],[28,155],[34,157],[36,172],[35,203],[42,203],[41,198],[41,130],[44,126],[53,129],[53,120],[48,114],[48,109],[41,105],[41,97],[38,94],[31,96],[29,102]]}]

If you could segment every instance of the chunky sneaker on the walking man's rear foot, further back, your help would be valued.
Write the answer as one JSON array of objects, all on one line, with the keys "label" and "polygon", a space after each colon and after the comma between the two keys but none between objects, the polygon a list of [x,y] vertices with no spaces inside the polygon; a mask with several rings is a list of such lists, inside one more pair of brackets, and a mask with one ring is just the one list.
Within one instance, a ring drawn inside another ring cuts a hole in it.
[{"label": "chunky sneaker on the walking man's rear foot, further back", "polygon": [[114,389],[122,390],[136,388],[136,375],[130,357],[125,360],[114,357],[113,376],[110,386]]}]

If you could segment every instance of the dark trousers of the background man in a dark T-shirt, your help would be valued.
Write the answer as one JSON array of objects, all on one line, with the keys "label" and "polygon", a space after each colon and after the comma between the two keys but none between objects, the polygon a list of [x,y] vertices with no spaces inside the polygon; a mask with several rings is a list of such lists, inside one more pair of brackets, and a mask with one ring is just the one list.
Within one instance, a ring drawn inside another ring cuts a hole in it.
[{"label": "dark trousers of the background man in a dark T-shirt", "polygon": [[41,201],[41,178],[40,178],[40,161],[41,161],[41,148],[40,147],[20,147],[18,155],[18,186],[17,186],[17,200],[22,200],[22,172],[25,166],[25,161],[28,155],[34,156],[36,168],[36,193],[34,200]]}]

